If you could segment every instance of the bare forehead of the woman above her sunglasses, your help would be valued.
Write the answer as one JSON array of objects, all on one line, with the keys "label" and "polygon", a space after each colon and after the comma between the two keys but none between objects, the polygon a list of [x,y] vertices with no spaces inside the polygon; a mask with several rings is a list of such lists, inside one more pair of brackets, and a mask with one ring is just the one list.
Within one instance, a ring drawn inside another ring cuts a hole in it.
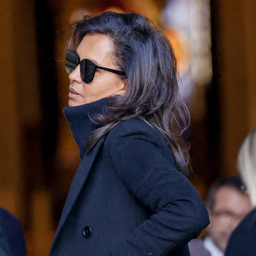
[{"label": "bare forehead of the woman above her sunglasses", "polygon": [[95,64],[113,61],[113,43],[103,34],[87,34],[76,49],[80,59],[89,59]]}]

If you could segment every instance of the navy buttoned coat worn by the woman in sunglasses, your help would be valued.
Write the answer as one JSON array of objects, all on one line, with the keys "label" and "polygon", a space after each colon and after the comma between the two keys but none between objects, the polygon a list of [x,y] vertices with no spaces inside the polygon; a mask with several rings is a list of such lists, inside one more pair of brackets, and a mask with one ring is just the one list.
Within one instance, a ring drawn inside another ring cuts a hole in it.
[{"label": "navy buttoned coat worn by the woman in sunglasses", "polygon": [[50,255],[188,256],[209,224],[160,132],[124,121],[84,155]]}]

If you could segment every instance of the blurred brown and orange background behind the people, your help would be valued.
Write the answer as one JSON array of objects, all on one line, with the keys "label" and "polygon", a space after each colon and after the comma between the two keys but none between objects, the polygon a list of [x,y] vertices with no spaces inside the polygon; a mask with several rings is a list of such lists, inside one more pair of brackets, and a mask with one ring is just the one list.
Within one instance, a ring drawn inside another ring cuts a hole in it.
[{"label": "blurred brown and orange background behind the people", "polygon": [[135,11],[165,31],[192,122],[192,183],[205,198],[237,173],[256,126],[255,0],[0,0],[0,206],[23,224],[28,255],[47,255],[79,163],[68,104],[68,25],[101,11]]}]

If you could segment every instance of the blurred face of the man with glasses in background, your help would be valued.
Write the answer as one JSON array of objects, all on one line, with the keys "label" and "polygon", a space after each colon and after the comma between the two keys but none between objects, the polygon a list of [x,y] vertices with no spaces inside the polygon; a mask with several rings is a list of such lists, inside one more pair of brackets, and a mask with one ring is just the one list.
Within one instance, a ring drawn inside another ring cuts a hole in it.
[{"label": "blurred face of the man with glasses in background", "polygon": [[207,230],[222,252],[225,252],[233,230],[251,209],[248,195],[236,188],[222,187],[217,191],[213,209],[208,209],[211,224]]}]

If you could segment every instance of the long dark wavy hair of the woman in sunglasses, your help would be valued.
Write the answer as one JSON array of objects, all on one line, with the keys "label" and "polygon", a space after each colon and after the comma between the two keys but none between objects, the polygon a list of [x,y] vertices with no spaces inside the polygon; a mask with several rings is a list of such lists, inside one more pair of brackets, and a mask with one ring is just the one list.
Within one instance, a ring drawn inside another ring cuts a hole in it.
[{"label": "long dark wavy hair of the woman in sunglasses", "polygon": [[181,135],[190,117],[179,97],[177,61],[168,39],[147,17],[137,13],[107,11],[85,16],[73,25],[69,48],[77,49],[86,34],[104,34],[113,42],[117,66],[126,73],[120,76],[126,79],[124,95],[112,97],[106,114],[94,119],[102,126],[87,139],[87,153],[115,125],[139,118],[162,133],[177,169],[187,176],[188,147]]}]

